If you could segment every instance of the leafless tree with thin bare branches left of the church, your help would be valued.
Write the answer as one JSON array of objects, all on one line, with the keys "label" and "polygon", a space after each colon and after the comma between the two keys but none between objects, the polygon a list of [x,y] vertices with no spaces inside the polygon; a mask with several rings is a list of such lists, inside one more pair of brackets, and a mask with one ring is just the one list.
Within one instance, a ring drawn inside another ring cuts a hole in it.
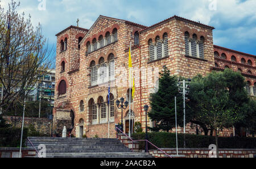
[{"label": "leafless tree with thin bare branches left of the church", "polygon": [[0,6],[0,84],[5,91],[0,107],[5,109],[26,97],[51,66],[53,50],[40,24],[33,27],[31,15],[26,19],[24,12],[18,14],[19,5],[12,0],[8,10]]}]

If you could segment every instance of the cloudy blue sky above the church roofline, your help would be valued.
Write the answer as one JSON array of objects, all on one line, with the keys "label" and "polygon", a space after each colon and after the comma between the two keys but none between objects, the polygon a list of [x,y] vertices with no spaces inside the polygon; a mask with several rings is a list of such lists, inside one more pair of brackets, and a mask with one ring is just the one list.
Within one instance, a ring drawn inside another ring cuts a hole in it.
[{"label": "cloudy blue sky above the church roofline", "polygon": [[[1,0],[7,7],[10,0]],[[21,0],[19,13],[31,14],[32,24],[56,50],[56,33],[74,25],[89,29],[99,15],[151,26],[173,15],[215,27],[213,43],[256,55],[256,0]]]}]

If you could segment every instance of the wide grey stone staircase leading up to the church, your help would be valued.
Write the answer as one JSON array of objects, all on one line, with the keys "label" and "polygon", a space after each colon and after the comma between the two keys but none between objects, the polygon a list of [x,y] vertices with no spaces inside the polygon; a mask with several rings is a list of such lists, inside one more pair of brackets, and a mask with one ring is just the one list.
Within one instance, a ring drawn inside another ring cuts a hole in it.
[{"label": "wide grey stone staircase leading up to the church", "polygon": [[[148,153],[132,152],[117,138],[28,138],[37,150],[40,144],[46,145],[46,158],[152,158]],[[27,147],[32,145],[28,142]]]}]

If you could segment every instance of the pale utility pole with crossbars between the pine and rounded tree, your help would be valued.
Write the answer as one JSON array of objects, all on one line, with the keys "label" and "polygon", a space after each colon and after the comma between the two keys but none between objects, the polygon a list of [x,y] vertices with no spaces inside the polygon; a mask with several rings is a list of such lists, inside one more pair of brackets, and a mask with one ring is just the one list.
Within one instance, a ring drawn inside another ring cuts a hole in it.
[{"label": "pale utility pole with crossbars between the pine and rounded tree", "polygon": [[[183,113],[184,113],[184,118],[183,118],[183,133],[184,133],[184,148],[186,147],[186,141],[185,141],[185,133],[186,133],[186,123],[185,123],[185,116],[186,116],[186,115],[185,115],[185,99],[187,99],[185,95],[188,95],[188,91],[186,91],[186,89],[189,90],[189,86],[188,86],[188,85],[186,86],[186,83],[190,83],[190,82],[191,82],[191,79],[188,79],[188,82],[186,82],[185,80],[183,80],[182,82],[178,82],[178,83],[179,83],[179,84],[178,84],[178,87],[183,89],[183,91],[180,92],[180,93],[183,94]],[[180,86],[180,83],[182,83],[182,87]]]}]

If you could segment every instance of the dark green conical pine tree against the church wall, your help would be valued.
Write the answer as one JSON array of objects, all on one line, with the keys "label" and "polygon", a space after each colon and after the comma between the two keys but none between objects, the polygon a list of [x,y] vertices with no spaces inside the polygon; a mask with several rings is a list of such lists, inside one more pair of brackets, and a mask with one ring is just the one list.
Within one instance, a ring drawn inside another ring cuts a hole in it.
[{"label": "dark green conical pine tree against the church wall", "polygon": [[183,123],[183,99],[178,91],[177,77],[170,75],[170,70],[164,67],[160,73],[159,90],[150,95],[151,109],[148,117],[156,122],[153,131],[166,130],[167,132],[175,127],[175,96],[177,97],[177,122]]}]

